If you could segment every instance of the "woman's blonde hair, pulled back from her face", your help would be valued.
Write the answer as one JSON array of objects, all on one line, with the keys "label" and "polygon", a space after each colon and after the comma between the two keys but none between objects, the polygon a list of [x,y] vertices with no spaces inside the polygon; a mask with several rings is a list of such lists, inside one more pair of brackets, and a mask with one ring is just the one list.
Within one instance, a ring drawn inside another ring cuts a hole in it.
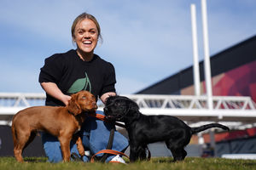
[{"label": "woman's blonde hair, pulled back from her face", "polygon": [[71,27],[72,37],[73,38],[75,37],[75,28],[76,28],[76,26],[78,25],[78,23],[81,20],[84,20],[84,19],[92,20],[95,23],[96,29],[98,31],[98,38],[100,38],[102,40],[101,27],[100,27],[98,21],[96,20],[96,18],[92,14],[87,14],[87,13],[79,14],[79,16],[73,21],[73,25]]}]

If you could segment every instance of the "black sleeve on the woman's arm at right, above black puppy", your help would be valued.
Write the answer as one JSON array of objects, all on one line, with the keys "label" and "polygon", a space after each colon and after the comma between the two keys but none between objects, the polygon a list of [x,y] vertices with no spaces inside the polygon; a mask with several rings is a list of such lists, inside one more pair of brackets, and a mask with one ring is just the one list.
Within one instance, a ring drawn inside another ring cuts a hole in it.
[{"label": "black sleeve on the woman's arm at right, above black puppy", "polygon": [[104,83],[102,87],[102,92],[100,93],[100,97],[102,96],[102,94],[106,94],[108,92],[115,93],[115,88],[114,88],[114,85],[116,83],[115,71],[111,63],[108,63],[105,73],[106,74],[104,76]]}]

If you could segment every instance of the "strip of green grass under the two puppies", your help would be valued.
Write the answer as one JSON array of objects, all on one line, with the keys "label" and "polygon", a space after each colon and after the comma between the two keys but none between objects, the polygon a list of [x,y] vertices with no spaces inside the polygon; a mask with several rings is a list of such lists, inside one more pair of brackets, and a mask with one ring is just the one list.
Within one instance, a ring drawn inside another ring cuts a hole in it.
[{"label": "strip of green grass under the two puppies", "polygon": [[25,163],[15,161],[14,157],[0,157],[1,170],[256,170],[255,160],[229,160],[223,158],[199,158],[187,157],[184,161],[172,162],[172,158],[152,158],[150,161],[138,161],[136,163],[49,163],[44,157],[25,158]]}]

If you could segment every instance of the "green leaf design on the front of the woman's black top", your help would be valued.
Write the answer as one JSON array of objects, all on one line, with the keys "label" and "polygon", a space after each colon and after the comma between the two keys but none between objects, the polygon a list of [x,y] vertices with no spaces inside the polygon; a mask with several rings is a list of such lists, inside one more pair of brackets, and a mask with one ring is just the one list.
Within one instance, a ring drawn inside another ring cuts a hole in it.
[{"label": "green leaf design on the front of the woman's black top", "polygon": [[68,94],[75,94],[78,93],[81,90],[87,90],[91,92],[91,85],[89,77],[87,76],[87,73],[85,72],[84,78],[79,78],[75,82],[73,82],[73,85],[67,90]]}]

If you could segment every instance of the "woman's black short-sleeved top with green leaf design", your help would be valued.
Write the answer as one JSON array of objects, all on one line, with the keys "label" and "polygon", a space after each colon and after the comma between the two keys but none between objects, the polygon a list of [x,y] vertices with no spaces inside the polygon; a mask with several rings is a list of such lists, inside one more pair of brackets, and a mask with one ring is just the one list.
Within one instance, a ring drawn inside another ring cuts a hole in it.
[{"label": "woman's black short-sleeved top with green leaf design", "polygon": [[[75,50],[54,54],[45,59],[39,82],[55,82],[63,94],[75,94],[81,90],[101,97],[115,92],[115,71],[111,63],[94,54],[93,59],[84,61]],[[46,94],[45,105],[64,105],[60,100]]]}]

